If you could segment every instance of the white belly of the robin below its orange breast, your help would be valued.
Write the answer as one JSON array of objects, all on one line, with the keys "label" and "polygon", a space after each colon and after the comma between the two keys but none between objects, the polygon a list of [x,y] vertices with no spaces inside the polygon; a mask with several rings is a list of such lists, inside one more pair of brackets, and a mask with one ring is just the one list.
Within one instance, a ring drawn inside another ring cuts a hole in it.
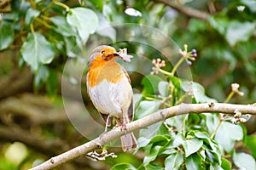
[{"label": "white belly of the robin below its orange breast", "polygon": [[121,116],[131,105],[132,88],[125,76],[115,84],[103,80],[96,87],[87,88],[92,103],[102,114]]}]

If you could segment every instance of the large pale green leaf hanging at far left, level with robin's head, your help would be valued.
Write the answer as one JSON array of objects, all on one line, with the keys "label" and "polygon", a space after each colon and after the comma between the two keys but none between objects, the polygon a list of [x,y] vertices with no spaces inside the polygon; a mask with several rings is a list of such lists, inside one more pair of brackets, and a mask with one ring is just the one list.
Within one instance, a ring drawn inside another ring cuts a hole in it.
[{"label": "large pale green leaf hanging at far left, level with robin's head", "polygon": [[23,43],[20,53],[26,64],[38,71],[39,65],[49,64],[55,57],[55,48],[52,43],[39,32],[29,33]]}]

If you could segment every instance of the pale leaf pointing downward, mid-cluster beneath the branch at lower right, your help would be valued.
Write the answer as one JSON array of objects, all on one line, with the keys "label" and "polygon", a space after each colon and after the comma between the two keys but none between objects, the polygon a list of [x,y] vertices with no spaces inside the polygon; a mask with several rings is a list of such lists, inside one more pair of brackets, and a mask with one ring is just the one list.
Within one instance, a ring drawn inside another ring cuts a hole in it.
[{"label": "pale leaf pointing downward, mid-cluster beneath the branch at lower right", "polygon": [[191,154],[194,154],[195,152],[200,150],[202,144],[203,144],[203,141],[200,139],[185,140],[185,142],[183,143],[183,147],[185,150],[185,156],[188,157]]}]

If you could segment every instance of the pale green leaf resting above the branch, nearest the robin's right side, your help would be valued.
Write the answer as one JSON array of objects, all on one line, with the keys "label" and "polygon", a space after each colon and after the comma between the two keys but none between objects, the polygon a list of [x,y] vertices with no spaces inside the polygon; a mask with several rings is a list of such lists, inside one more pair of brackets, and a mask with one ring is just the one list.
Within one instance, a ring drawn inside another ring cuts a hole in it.
[{"label": "pale green leaf resting above the branch, nearest the robin's right side", "polygon": [[148,116],[151,113],[154,113],[154,111],[157,111],[160,107],[160,104],[161,104],[160,100],[155,100],[155,101],[143,100],[138,105],[137,110],[135,112],[135,116],[137,117],[137,119],[143,118],[144,116]]}]

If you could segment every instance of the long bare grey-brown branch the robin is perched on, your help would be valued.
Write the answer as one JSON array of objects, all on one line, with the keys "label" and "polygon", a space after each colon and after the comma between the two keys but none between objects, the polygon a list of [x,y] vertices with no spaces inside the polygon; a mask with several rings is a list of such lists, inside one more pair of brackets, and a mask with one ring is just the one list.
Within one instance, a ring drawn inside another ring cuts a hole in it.
[{"label": "long bare grey-brown branch the robin is perched on", "polygon": [[66,163],[67,161],[73,161],[79,156],[84,156],[92,150],[102,147],[104,144],[108,144],[113,139],[118,139],[125,133],[131,133],[135,130],[148,127],[155,122],[164,121],[172,116],[183,115],[187,113],[203,113],[203,112],[222,112],[226,114],[234,114],[236,111],[240,111],[242,114],[253,114],[256,115],[256,105],[233,105],[233,104],[181,104],[176,105],[161,111],[157,111],[152,115],[145,116],[134,122],[126,124],[127,131],[121,131],[120,127],[116,127],[108,132],[106,135],[102,135],[96,139],[91,140],[88,143],[79,145],[72,150],[68,150],[59,156],[50,158],[37,167],[32,167],[31,170],[46,170],[53,169]]}]

